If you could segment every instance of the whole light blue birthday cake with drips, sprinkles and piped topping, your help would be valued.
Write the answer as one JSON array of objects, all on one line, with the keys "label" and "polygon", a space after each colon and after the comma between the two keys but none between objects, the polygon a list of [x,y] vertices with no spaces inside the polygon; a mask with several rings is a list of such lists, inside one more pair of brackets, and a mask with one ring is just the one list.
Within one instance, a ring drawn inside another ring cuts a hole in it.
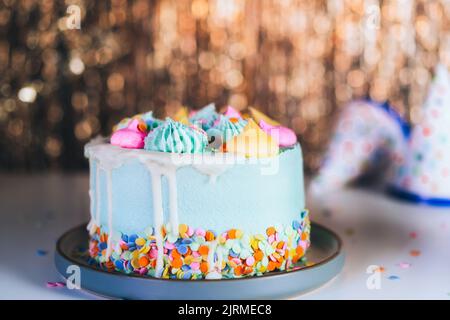
[{"label": "whole light blue birthday cake with drips, sprinkles and piped topping", "polygon": [[89,256],[108,270],[227,279],[292,270],[310,223],[292,130],[213,104],[173,119],[122,120],[85,147]]}]

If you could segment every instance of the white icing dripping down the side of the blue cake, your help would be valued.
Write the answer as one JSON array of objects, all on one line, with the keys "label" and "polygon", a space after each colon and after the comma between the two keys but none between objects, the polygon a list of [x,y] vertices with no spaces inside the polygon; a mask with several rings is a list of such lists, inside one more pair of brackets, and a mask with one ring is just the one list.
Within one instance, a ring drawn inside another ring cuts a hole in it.
[{"label": "white icing dripping down the side of the blue cake", "polygon": [[[155,276],[160,277],[164,268],[164,246],[162,236],[162,226],[164,225],[163,196],[162,196],[162,176],[166,176],[169,184],[169,223],[172,230],[178,230],[178,204],[177,204],[177,183],[176,170],[179,167],[192,165],[200,173],[208,175],[210,182],[214,183],[217,177],[223,174],[236,160],[242,160],[227,154],[169,154],[161,152],[151,152],[146,150],[129,150],[105,143],[105,139],[96,138],[85,147],[85,155],[90,160],[97,160],[96,166],[96,215],[95,222],[100,226],[100,169],[106,171],[107,175],[107,198],[108,198],[108,243],[106,258],[109,259],[112,253],[113,239],[113,206],[112,206],[112,170],[122,166],[127,161],[139,159],[143,163],[151,176],[153,193],[153,224],[155,229],[156,245],[158,255],[156,259]],[[91,199],[92,201],[92,199]],[[217,248],[217,240],[209,244],[208,262],[209,273],[207,279],[220,279],[222,275],[218,273],[214,265],[214,254]],[[219,248],[220,249],[220,248]],[[220,252],[220,251],[219,251]],[[222,265],[222,257],[218,257],[219,270]]]}]

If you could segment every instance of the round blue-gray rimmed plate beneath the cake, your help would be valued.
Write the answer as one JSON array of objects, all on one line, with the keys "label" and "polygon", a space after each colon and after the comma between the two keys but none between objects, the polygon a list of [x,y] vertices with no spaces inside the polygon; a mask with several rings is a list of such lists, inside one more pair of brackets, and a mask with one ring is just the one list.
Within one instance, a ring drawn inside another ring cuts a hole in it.
[{"label": "round blue-gray rimmed plate beneath the cake", "polygon": [[107,272],[80,255],[88,239],[86,225],[62,235],[56,244],[56,268],[67,279],[73,274],[69,267],[77,265],[82,290],[116,299],[287,299],[324,285],[344,265],[341,239],[317,223],[312,223],[311,247],[306,254],[313,265],[242,279],[169,280]]}]

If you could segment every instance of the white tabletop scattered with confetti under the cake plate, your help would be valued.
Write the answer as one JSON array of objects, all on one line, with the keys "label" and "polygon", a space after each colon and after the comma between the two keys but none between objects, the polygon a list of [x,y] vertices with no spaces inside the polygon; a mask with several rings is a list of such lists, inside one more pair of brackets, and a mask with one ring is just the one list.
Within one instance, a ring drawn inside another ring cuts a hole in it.
[{"label": "white tabletop scattered with confetti under the cake plate", "polygon": [[[97,298],[46,287],[61,281],[53,264],[56,240],[88,220],[87,190],[87,174],[0,174],[1,299]],[[450,209],[357,189],[307,202],[312,220],[342,237],[346,262],[337,278],[299,298],[450,299]],[[420,255],[412,256],[412,250]],[[378,290],[366,286],[370,265],[384,268]]]}]

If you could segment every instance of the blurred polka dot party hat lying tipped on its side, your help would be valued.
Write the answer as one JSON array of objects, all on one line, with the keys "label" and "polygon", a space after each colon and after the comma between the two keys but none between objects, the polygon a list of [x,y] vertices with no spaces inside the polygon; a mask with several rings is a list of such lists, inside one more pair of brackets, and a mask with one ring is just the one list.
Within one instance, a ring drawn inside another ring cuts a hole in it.
[{"label": "blurred polka dot party hat lying tipped on its side", "polygon": [[310,191],[320,195],[370,173],[384,177],[394,161],[401,161],[408,134],[409,126],[387,103],[351,102],[338,118]]}]

